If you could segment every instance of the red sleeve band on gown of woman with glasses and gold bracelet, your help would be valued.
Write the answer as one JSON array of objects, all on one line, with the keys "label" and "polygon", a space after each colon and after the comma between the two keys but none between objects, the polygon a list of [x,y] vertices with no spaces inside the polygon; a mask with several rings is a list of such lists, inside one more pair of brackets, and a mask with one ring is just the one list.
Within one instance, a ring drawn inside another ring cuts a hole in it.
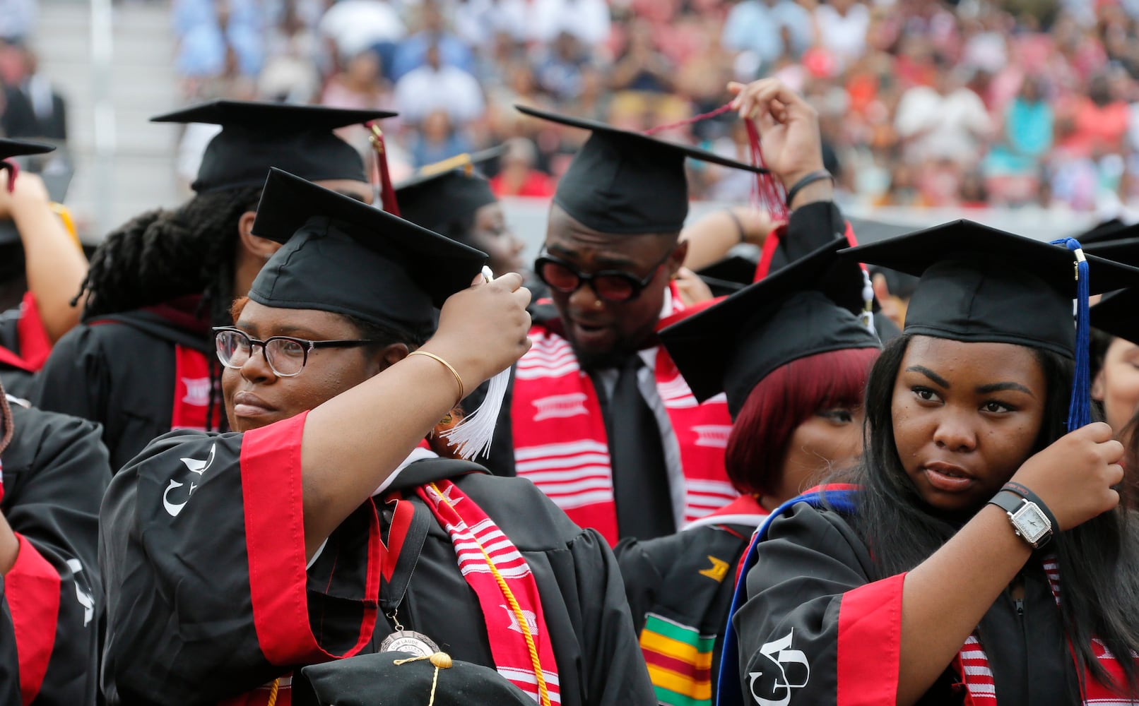
[{"label": "red sleeve band on gown of woman with glasses and gold bracelet", "polygon": [[[357,645],[344,655],[325,651],[309,624],[304,558],[301,438],[308,412],[247,432],[241,440],[241,503],[253,622],[261,651],[273,665],[311,664],[359,652],[376,626],[379,563],[368,563],[364,618]],[[379,518],[374,516],[368,556],[376,557]]]}]

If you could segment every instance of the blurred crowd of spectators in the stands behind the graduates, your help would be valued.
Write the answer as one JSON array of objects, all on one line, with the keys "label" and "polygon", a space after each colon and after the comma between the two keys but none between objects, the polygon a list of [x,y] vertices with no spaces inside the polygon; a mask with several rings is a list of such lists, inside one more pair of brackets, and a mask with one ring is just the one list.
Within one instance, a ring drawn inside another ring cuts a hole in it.
[{"label": "blurred crowd of spectators in the stands behind the graduates", "polygon": [[[18,123],[63,106],[19,41],[34,0],[0,10],[0,128],[31,137]],[[647,129],[776,75],[819,110],[847,203],[1139,204],[1139,0],[173,0],[171,19],[186,104],[398,110],[396,179],[505,142],[499,194],[548,196],[582,134],[514,104]],[[746,159],[732,117],[666,134]],[[187,132],[180,174],[212,134]],[[345,137],[368,149],[362,129]],[[741,202],[754,183],[693,169],[695,198]]]}]

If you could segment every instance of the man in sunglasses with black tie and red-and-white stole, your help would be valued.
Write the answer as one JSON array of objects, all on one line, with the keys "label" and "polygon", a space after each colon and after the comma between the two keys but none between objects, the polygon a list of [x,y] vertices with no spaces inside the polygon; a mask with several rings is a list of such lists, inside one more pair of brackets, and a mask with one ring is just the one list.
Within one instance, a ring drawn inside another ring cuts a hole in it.
[{"label": "man in sunglasses with black tie and red-and-white stole", "polygon": [[657,352],[682,306],[685,158],[752,169],[687,146],[532,108],[591,130],[558,183],[535,273],[550,288],[510,407],[515,466],[611,543],[675,532],[727,503],[722,400],[697,404]]}]

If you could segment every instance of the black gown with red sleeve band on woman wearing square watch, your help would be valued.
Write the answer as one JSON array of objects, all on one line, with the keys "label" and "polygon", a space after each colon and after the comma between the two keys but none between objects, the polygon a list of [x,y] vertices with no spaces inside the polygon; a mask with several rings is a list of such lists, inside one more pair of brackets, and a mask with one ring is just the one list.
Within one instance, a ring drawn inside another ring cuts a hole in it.
[{"label": "black gown with red sleeve band on woman wearing square watch", "polygon": [[[839,512],[800,502],[772,520],[746,577],[747,602],[732,617],[747,703],[894,703],[904,574],[871,575],[866,544]],[[1040,561],[1023,576],[1023,615],[1006,591],[978,626],[997,703],[1077,704],[1074,663]],[[959,681],[947,670],[919,704],[961,704]]]}]

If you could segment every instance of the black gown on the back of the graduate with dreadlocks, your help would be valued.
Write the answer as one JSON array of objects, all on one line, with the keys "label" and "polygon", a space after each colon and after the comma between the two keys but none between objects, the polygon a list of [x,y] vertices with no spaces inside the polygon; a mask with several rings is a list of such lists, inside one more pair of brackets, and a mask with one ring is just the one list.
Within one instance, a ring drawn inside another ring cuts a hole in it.
[{"label": "black gown on the back of the graduate with dreadlocks", "polygon": [[117,473],[172,427],[177,348],[214,355],[208,334],[153,311],[132,311],[81,323],[60,338],[36,375],[32,401],[103,425]]}]

